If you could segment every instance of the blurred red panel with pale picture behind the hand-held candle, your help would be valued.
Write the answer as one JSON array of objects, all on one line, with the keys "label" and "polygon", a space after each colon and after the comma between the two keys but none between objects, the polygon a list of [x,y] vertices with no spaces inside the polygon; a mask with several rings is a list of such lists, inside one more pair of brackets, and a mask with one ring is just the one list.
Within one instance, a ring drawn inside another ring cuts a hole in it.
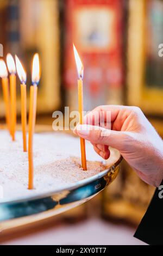
[{"label": "blurred red panel with pale picture behind the hand-held candle", "polygon": [[67,0],[65,17],[65,85],[77,80],[73,46],[84,64],[84,83],[91,93],[103,86],[122,86],[121,0]]}]

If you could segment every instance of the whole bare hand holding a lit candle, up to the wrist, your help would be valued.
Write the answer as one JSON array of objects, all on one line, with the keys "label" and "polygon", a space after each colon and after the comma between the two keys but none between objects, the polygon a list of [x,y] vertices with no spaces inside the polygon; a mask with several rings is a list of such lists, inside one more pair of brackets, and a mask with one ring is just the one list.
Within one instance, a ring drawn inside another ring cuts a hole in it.
[{"label": "whole bare hand holding a lit candle, up to the wrist", "polygon": [[[106,113],[110,119],[106,120]],[[103,113],[102,122],[99,120]],[[110,129],[104,126],[110,125]],[[138,107],[99,106],[84,117],[74,133],[89,140],[96,153],[104,159],[110,155],[109,146],[120,151],[140,178],[158,187],[163,179],[163,141]]]}]

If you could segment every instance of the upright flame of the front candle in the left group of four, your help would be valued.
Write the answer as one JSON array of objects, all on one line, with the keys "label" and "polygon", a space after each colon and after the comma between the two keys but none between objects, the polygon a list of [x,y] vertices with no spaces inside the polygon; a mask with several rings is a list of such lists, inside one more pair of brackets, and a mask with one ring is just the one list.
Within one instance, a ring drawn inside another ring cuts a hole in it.
[{"label": "upright flame of the front candle in the left group of four", "polygon": [[32,65],[32,83],[38,84],[40,81],[40,62],[39,62],[39,54],[35,53],[33,57],[33,65]]}]

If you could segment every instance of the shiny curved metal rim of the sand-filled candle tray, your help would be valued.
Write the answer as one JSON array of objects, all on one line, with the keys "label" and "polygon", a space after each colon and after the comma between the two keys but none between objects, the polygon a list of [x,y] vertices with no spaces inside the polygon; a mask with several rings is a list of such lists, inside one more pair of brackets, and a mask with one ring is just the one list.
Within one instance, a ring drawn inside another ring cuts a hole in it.
[{"label": "shiny curved metal rim of the sand-filled candle tray", "polygon": [[109,167],[106,166],[101,173],[75,182],[71,186],[65,186],[61,190],[42,193],[38,196],[20,197],[15,200],[1,200],[0,230],[12,229],[58,215],[95,197],[111,184],[120,169],[122,156],[117,150],[110,150],[116,157],[113,163],[109,164]]}]

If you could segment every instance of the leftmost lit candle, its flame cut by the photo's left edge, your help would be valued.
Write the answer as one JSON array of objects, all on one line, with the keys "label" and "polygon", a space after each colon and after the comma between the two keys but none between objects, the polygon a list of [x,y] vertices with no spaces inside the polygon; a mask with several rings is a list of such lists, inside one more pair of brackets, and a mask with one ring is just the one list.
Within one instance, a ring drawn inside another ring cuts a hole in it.
[{"label": "leftmost lit candle, its flame cut by the photo's left edge", "polygon": [[0,60],[0,77],[2,78],[2,90],[5,104],[5,119],[10,132],[10,98],[9,98],[9,80],[7,66],[4,60]]}]

